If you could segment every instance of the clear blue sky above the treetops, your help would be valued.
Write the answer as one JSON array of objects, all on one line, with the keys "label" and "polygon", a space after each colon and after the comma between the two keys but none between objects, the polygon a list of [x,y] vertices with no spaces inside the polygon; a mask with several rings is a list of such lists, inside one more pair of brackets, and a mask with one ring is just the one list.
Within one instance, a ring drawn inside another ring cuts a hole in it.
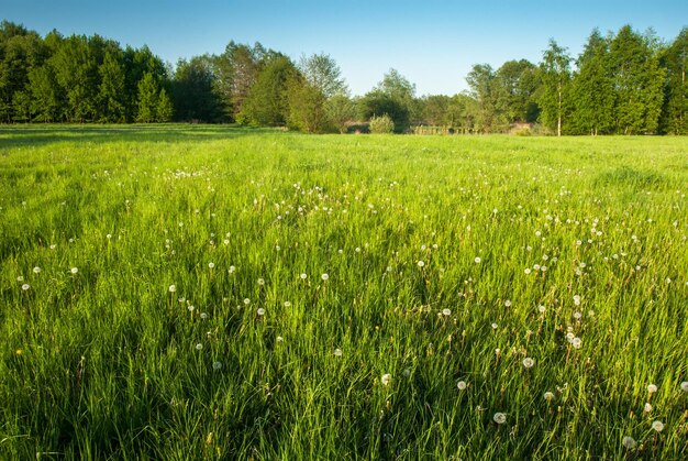
[{"label": "clear blue sky above the treetops", "polygon": [[57,29],[147,44],[173,64],[221,53],[230,40],[260,42],[293,59],[325,52],[354,95],[393,67],[420,96],[464,90],[473,64],[537,63],[551,37],[576,56],[596,26],[652,26],[672,41],[688,26],[688,0],[0,0],[0,19],[42,35]]}]

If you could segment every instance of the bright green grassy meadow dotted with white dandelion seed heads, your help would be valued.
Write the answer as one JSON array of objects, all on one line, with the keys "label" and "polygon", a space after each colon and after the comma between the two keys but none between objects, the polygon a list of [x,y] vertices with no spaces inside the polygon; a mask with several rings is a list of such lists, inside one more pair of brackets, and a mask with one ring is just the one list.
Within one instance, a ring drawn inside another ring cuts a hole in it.
[{"label": "bright green grassy meadow dotted with white dandelion seed heads", "polygon": [[0,459],[686,459],[688,141],[0,129]]}]

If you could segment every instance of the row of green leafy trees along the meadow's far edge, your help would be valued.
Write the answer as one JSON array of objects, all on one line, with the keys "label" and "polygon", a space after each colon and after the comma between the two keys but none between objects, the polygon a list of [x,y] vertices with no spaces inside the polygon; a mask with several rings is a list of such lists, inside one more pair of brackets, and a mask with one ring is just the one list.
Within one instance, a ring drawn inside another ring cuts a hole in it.
[{"label": "row of green leafy trees along the meadow's far edge", "polygon": [[624,25],[592,31],[574,58],[554,40],[537,64],[476,64],[469,90],[419,97],[390,69],[352,97],[328,54],[230,42],[174,67],[147,46],[99,35],[44,37],[0,24],[0,122],[221,122],[304,132],[687,134],[688,28],[670,43]]}]

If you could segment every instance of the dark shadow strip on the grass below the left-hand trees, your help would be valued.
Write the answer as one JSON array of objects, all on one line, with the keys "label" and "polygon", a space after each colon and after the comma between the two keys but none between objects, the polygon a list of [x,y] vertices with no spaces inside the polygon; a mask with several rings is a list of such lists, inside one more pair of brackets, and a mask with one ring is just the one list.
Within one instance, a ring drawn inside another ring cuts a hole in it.
[{"label": "dark shadow strip on the grass below the left-hand trees", "polygon": [[276,129],[204,124],[0,125],[0,155],[5,149],[58,142],[202,142],[276,132]]}]

